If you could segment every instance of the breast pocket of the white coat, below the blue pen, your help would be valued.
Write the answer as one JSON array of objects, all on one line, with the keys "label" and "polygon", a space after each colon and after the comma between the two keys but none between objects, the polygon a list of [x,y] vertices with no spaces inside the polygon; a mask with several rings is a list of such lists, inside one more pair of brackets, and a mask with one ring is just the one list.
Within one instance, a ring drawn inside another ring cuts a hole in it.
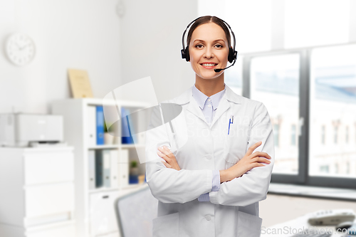
[{"label": "breast pocket of the white coat, below the blue pen", "polygon": [[246,125],[231,124],[229,135],[226,133],[224,144],[224,157],[226,162],[236,164],[246,154],[249,127]]}]

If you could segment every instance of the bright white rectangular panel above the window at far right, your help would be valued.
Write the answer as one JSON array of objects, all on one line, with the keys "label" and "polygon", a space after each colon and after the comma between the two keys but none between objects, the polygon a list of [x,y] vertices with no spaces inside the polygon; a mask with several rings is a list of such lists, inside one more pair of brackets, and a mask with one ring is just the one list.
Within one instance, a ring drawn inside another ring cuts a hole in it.
[{"label": "bright white rectangular panel above the window at far right", "polygon": [[349,0],[288,0],[285,4],[286,48],[349,41]]}]

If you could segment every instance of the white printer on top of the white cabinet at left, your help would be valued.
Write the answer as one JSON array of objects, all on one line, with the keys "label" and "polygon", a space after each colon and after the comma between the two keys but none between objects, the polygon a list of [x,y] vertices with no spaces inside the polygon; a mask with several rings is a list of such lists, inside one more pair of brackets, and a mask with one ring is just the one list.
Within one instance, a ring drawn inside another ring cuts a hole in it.
[{"label": "white printer on top of the white cabinet at left", "polygon": [[62,115],[0,114],[1,147],[33,147],[62,141]]}]

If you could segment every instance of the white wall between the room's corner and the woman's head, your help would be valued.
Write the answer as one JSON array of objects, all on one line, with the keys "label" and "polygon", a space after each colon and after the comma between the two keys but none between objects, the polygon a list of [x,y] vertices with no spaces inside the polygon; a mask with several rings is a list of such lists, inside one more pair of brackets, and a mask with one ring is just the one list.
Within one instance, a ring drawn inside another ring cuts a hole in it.
[{"label": "white wall between the room's corner and the woman's head", "polygon": [[[122,84],[151,76],[157,100],[167,100],[194,85],[190,63],[181,58],[182,33],[197,18],[197,0],[122,1]],[[145,100],[145,91],[137,91]]]}]

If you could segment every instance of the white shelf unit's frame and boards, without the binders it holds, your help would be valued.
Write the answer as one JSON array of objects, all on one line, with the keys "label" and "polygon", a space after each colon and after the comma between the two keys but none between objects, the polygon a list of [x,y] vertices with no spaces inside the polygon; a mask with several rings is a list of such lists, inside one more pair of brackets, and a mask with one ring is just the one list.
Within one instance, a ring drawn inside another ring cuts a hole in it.
[{"label": "white shelf unit's frame and boards, without the binders it holds", "polygon": [[[129,162],[136,160],[139,174],[145,174],[145,164],[140,164],[137,156],[137,152],[145,152],[145,144],[120,144],[120,142],[119,144],[89,145],[88,131],[86,131],[90,123],[87,117],[88,107],[102,105],[103,100],[96,98],[58,100],[52,103],[52,113],[63,115],[65,141],[75,147],[75,220],[78,237],[120,236],[113,201],[118,196],[147,185],[146,183],[122,184],[124,177],[121,171],[125,169],[128,174],[129,164],[120,162],[120,151],[127,149]],[[115,106],[119,111],[121,107],[130,108],[133,111],[150,107],[147,103],[130,101],[117,101]],[[93,149],[117,149],[119,186],[90,189],[88,152]],[[128,177],[125,179],[128,180]],[[102,221],[106,222],[102,223]]]}]

